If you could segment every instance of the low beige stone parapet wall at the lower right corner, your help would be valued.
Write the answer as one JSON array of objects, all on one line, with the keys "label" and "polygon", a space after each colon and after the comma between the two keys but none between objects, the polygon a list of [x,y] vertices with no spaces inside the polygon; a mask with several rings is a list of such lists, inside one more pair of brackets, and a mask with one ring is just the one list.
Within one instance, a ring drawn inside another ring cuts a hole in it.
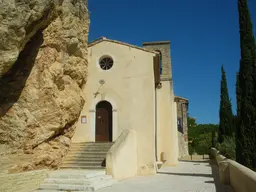
[{"label": "low beige stone parapet wall at the lower right corner", "polygon": [[211,155],[219,166],[220,182],[230,185],[235,192],[251,192],[256,190],[256,172],[227,159],[215,149]]}]

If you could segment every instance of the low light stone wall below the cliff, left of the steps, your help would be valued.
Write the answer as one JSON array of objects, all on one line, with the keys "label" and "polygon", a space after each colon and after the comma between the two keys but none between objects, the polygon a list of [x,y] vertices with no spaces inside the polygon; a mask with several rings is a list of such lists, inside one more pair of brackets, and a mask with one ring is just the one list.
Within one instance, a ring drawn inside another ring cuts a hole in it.
[{"label": "low light stone wall below the cliff, left of the steps", "polygon": [[47,177],[48,170],[0,175],[1,192],[32,192]]}]

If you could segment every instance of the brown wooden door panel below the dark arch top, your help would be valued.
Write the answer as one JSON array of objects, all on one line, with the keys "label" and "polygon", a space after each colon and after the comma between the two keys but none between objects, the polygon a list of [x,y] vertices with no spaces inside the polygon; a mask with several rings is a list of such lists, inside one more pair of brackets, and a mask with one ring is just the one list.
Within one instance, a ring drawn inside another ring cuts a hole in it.
[{"label": "brown wooden door panel below the dark arch top", "polygon": [[109,111],[105,108],[96,110],[96,141],[109,141]]}]

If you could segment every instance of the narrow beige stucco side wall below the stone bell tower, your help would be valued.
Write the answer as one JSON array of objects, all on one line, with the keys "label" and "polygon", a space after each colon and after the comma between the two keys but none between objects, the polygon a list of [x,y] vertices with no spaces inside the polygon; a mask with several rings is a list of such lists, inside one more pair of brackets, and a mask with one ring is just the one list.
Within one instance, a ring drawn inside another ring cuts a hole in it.
[{"label": "narrow beige stucco side wall below the stone bell tower", "polygon": [[171,81],[162,81],[157,89],[157,158],[161,161],[161,153],[165,153],[165,166],[178,162],[177,106]]}]

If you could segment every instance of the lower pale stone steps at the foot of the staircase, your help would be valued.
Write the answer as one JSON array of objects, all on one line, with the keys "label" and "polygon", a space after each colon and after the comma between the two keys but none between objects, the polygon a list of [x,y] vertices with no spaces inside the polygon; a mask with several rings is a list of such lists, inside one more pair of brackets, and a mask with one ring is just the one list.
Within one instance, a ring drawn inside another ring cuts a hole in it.
[{"label": "lower pale stone steps at the foot of the staircase", "polygon": [[116,180],[104,170],[61,169],[48,174],[36,192],[86,192],[112,186]]}]

